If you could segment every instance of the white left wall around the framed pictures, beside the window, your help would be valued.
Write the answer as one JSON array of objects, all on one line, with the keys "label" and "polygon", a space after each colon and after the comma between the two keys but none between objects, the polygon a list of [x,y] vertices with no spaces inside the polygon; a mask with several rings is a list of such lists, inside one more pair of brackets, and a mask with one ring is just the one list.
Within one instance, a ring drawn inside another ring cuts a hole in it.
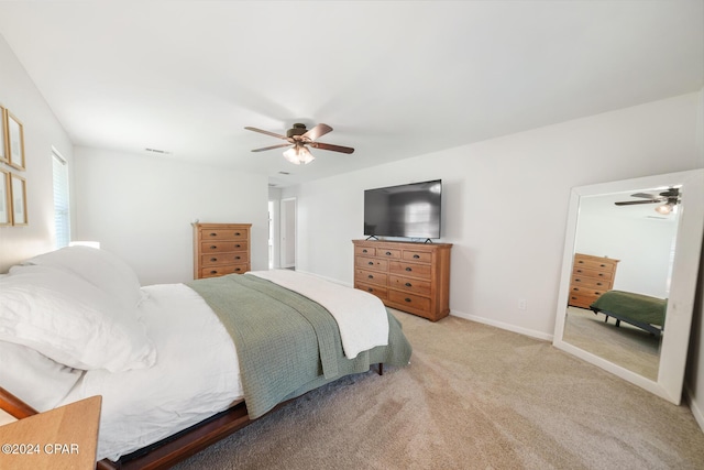
[{"label": "white left wall around the framed pictures, beside the window", "polygon": [[2,36],[0,36],[0,105],[16,116],[24,128],[26,171],[12,170],[12,172],[26,179],[30,222],[24,227],[0,227],[0,273],[2,273],[19,261],[54,249],[52,146],[70,164],[73,145]]}]

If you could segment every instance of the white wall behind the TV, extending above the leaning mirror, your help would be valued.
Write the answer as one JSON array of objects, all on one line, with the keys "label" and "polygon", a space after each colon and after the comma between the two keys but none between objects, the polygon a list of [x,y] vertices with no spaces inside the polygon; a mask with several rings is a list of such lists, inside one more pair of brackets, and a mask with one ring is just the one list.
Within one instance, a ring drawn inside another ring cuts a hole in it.
[{"label": "white wall behind the TV, extending above the leaning mirror", "polygon": [[452,314],[551,339],[570,188],[697,167],[700,106],[690,94],[285,189],[297,266],[352,284],[363,189],[441,178]]}]

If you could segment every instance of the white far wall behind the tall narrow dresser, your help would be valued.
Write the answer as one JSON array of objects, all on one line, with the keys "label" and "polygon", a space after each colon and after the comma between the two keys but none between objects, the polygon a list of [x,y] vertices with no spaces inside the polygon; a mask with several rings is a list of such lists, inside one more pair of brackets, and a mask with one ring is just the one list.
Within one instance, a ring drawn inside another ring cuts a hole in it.
[{"label": "white far wall behind the tall narrow dresser", "polygon": [[193,227],[252,223],[252,269],[267,269],[267,178],[169,157],[77,147],[76,239],[124,259],[142,284],[193,280]]}]

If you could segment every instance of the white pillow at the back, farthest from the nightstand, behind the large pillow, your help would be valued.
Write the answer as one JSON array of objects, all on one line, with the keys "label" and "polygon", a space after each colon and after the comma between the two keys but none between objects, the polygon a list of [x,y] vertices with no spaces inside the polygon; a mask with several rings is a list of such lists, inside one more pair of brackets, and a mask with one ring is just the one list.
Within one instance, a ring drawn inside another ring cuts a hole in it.
[{"label": "white pillow at the back, farthest from the nightstand, behind the large pillow", "polygon": [[143,299],[140,280],[120,258],[97,248],[77,245],[40,254],[22,264],[67,270],[106,293],[113,295],[127,307],[135,307]]}]

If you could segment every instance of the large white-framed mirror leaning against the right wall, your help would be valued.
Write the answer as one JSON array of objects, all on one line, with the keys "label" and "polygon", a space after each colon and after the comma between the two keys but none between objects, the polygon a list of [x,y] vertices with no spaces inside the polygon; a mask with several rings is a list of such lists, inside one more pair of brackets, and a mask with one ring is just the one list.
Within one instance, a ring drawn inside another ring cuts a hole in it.
[{"label": "large white-framed mirror leaning against the right wall", "polygon": [[680,404],[704,170],[572,189],[553,345]]}]

